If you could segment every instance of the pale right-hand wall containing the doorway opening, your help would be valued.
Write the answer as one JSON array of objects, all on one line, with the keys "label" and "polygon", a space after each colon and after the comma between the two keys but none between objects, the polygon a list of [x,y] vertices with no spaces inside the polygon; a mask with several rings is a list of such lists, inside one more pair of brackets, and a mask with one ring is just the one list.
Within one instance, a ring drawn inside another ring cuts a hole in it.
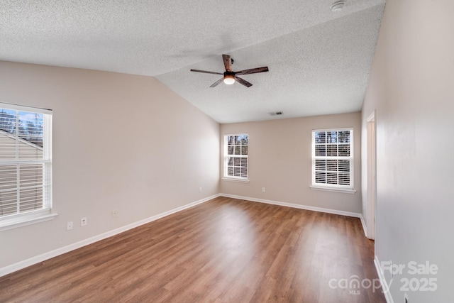
[{"label": "pale right-hand wall containing the doorway opening", "polygon": [[[438,290],[406,291],[409,302],[454,302],[453,11],[452,0],[387,1],[362,108],[363,133],[377,111],[376,255],[406,266],[384,272],[394,302],[404,302],[402,278],[429,277]],[[438,274],[409,275],[411,261]]]}]

